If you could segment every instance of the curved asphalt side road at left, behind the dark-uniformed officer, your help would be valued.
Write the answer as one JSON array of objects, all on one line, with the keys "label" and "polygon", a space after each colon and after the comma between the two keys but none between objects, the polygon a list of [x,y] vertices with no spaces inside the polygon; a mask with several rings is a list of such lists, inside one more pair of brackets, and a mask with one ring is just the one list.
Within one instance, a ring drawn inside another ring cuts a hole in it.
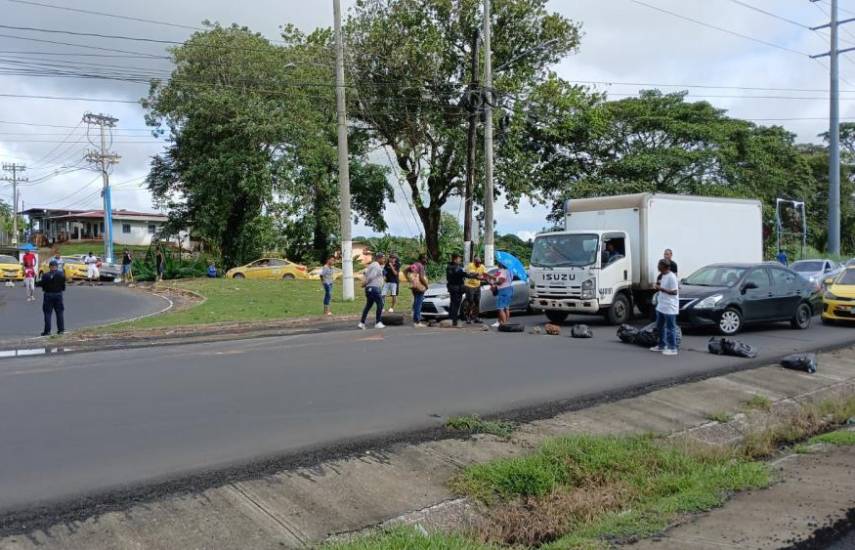
[{"label": "curved asphalt side road at left, behind the dark-uniformed officer", "polygon": [[[38,336],[44,326],[42,291],[36,289],[35,302],[26,301],[22,283],[14,288],[0,285],[0,340]],[[114,286],[68,285],[65,291],[65,328],[122,321],[156,313],[169,303],[158,296]],[[53,330],[56,331],[54,319]]]}]

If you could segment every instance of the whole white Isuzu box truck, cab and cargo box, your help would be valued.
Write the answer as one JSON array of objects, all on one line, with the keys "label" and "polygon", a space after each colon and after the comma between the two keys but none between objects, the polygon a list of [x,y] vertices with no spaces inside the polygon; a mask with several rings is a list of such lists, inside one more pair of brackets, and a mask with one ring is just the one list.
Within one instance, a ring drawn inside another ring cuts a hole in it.
[{"label": "whole white Isuzu box truck, cab and cargo box", "polygon": [[763,261],[760,201],[641,193],[565,204],[563,231],[534,239],[529,302],[553,322],[571,313],[627,322],[651,312],[666,248],[680,277],[720,262]]}]

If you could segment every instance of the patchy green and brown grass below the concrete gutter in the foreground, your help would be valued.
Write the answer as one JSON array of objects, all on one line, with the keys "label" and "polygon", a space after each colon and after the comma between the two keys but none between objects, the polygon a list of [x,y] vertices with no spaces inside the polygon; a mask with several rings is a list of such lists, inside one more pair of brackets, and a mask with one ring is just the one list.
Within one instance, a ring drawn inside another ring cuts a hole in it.
[{"label": "patchy green and brown grass below the concrete gutter in the foreground", "polygon": [[[752,414],[771,411],[771,402],[758,405]],[[726,412],[713,416],[730,419]],[[763,459],[784,448],[855,445],[855,432],[827,431],[853,417],[855,397],[846,397],[772,413],[769,423],[734,446],[653,435],[552,439],[524,457],[470,466],[453,480],[458,494],[481,507],[481,519],[465,531],[428,534],[399,526],[323,548],[609,548],[661,532],[683,514],[721,506],[734,492],[768,486],[773,475]],[[474,433],[479,420],[460,417],[447,425]],[[788,447],[799,441],[805,444]]]}]

